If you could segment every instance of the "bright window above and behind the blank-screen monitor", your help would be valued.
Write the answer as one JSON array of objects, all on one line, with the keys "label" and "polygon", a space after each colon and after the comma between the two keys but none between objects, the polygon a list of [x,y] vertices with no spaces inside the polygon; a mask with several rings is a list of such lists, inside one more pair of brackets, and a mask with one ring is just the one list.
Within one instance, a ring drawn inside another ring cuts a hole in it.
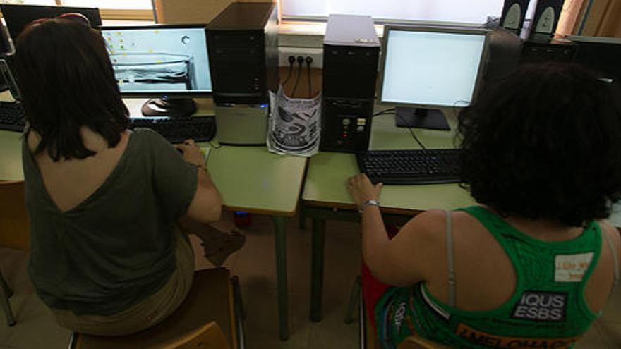
[{"label": "bright window above and behind the blank-screen monitor", "polygon": [[331,13],[370,15],[375,19],[485,23],[500,17],[499,0],[282,0],[282,16],[328,16]]}]

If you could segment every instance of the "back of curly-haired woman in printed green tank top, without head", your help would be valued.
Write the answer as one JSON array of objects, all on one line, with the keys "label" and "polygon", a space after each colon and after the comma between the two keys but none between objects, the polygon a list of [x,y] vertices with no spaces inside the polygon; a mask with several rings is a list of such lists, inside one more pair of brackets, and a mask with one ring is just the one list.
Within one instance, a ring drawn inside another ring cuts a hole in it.
[{"label": "back of curly-haired woman in printed green tank top, without head", "polygon": [[[426,281],[393,288],[382,297],[376,307],[376,317],[385,320],[378,323],[380,333],[404,338],[414,330],[466,347],[538,348],[533,343],[539,343],[550,345],[541,348],[565,348],[589,328],[608,300],[615,258],[605,235],[617,255],[620,250],[618,233],[608,224],[593,222],[583,229],[505,221],[483,207],[451,216],[449,245],[442,211],[421,214],[414,219],[417,231],[406,226],[399,233],[426,240]],[[454,306],[447,246],[453,257]]]}]

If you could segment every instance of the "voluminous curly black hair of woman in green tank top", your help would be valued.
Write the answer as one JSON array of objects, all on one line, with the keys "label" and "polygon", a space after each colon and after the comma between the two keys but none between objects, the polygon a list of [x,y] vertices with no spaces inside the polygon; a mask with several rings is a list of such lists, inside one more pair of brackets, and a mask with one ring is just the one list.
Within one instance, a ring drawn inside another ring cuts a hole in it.
[{"label": "voluminous curly black hair of woman in green tank top", "polygon": [[621,93],[585,68],[521,66],[459,114],[462,185],[503,216],[582,226],[621,197]]}]

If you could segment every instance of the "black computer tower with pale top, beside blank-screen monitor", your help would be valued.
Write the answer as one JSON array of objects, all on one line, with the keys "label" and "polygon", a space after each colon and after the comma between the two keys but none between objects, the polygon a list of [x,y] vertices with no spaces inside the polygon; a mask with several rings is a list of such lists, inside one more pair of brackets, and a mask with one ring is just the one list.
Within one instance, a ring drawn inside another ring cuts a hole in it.
[{"label": "black computer tower with pale top, beside blank-screen monitor", "polygon": [[368,149],[380,41],[370,16],[331,15],[323,45],[320,149]]}]

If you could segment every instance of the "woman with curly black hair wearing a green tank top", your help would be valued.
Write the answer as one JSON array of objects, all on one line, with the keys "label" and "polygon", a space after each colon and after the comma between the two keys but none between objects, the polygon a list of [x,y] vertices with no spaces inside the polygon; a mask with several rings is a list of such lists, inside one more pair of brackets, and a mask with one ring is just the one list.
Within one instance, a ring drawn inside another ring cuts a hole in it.
[{"label": "woman with curly black hair wearing a green tank top", "polygon": [[349,180],[378,338],[571,347],[618,279],[621,241],[604,219],[621,197],[619,90],[578,66],[523,66],[463,109],[458,131],[475,206],[423,212],[391,239],[382,185]]}]

